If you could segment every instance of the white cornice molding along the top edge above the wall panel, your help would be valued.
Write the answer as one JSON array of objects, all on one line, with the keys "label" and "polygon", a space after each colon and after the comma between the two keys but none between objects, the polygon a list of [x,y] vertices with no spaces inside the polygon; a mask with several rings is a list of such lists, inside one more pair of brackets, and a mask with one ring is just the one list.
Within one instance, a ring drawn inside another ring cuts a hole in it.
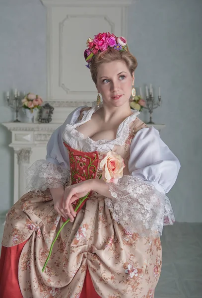
[{"label": "white cornice molding along the top edge above the wall panel", "polygon": [[73,7],[97,7],[97,6],[129,6],[136,0],[41,0],[47,6],[73,6]]}]

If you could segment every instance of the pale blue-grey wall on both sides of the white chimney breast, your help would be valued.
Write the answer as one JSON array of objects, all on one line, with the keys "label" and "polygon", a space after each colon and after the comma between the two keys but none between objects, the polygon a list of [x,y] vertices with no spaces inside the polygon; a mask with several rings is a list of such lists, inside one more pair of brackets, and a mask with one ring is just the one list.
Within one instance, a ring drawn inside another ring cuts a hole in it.
[{"label": "pale blue-grey wall on both sides of the white chimney breast", "polygon": [[[161,138],[178,156],[181,170],[168,197],[176,220],[202,222],[202,1],[138,0],[129,12],[129,46],[138,67],[135,85],[161,86]],[[0,122],[12,120],[5,91],[17,87],[46,96],[46,8],[39,0],[0,1]],[[146,113],[141,119],[148,120]],[[0,126],[0,212],[12,204],[9,133]]]}]

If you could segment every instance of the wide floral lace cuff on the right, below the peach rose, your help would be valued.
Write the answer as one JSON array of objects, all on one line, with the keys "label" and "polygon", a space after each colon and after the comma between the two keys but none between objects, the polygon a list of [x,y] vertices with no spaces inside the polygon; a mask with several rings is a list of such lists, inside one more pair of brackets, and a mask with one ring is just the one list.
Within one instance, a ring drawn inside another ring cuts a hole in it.
[{"label": "wide floral lace cuff on the right, below the peach rose", "polygon": [[163,225],[175,222],[169,199],[151,183],[125,175],[117,184],[107,184],[113,199],[106,197],[105,204],[127,231],[158,237]]}]

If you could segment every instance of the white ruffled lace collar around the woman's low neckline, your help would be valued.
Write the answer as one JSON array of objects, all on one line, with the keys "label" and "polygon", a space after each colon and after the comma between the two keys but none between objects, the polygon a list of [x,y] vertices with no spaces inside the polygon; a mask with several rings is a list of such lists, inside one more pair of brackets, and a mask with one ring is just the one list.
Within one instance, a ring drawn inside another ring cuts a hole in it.
[{"label": "white ruffled lace collar around the woman's low neckline", "polygon": [[[78,132],[76,130],[76,128],[82,124],[84,124],[85,122],[89,121],[93,115],[93,113],[95,113],[97,110],[99,110],[101,107],[103,107],[103,103],[100,103],[99,107],[97,107],[97,102],[94,101],[92,103],[92,108],[87,110],[87,111],[83,111],[83,117],[80,121],[78,121],[77,123],[70,123],[67,124],[65,131],[63,132],[63,139],[67,142],[67,144],[69,143],[69,134],[71,137],[76,138],[78,141],[82,141],[82,142],[86,142],[91,148],[93,148],[94,150],[97,150],[100,146],[102,145],[121,145],[123,146],[126,139],[129,136],[130,133],[130,127],[129,124],[134,121],[136,119],[136,116],[138,114],[140,114],[139,111],[137,110],[131,110],[132,111],[132,115],[128,116],[118,127],[117,130],[117,134],[116,134],[116,139],[113,140],[97,140],[97,141],[93,141],[91,138],[87,137],[84,138],[83,134]],[[69,144],[70,146],[70,144]],[[101,149],[101,148],[100,148]]]}]

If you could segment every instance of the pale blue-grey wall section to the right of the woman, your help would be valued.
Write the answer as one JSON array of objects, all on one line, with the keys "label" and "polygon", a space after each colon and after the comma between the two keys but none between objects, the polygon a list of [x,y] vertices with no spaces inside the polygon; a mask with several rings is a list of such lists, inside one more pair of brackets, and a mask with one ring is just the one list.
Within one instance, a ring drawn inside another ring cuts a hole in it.
[{"label": "pale blue-grey wall section to the right of the woman", "polygon": [[181,162],[168,194],[176,220],[202,222],[202,1],[138,0],[128,23],[136,85],[161,86],[153,119]]}]

